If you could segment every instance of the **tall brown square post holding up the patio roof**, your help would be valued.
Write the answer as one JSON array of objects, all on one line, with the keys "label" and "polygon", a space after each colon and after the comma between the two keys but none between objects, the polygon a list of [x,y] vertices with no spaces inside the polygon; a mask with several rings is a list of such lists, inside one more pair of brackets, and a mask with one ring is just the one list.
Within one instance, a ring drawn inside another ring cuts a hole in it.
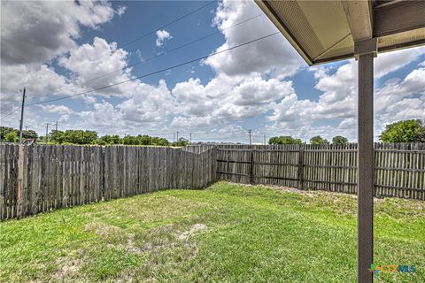
[{"label": "tall brown square post holding up the patio roof", "polygon": [[374,256],[374,54],[359,55],[358,281],[373,282]]}]

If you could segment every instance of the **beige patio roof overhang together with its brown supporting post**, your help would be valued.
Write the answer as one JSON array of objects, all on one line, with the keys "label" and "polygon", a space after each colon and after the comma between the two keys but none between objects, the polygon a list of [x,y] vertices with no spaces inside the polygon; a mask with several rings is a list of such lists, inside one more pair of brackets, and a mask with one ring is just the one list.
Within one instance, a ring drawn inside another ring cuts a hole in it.
[{"label": "beige patio roof overhang together with its brown supporting post", "polygon": [[374,57],[425,44],[425,0],[255,0],[308,65],[355,57],[358,73],[358,281],[374,257]]}]

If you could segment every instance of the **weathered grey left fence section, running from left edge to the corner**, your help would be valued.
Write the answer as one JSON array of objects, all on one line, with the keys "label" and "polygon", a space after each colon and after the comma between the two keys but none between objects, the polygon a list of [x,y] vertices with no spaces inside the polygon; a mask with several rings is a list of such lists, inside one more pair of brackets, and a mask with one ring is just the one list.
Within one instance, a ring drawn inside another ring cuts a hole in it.
[{"label": "weathered grey left fence section, running from left edge to the corner", "polygon": [[0,219],[216,180],[216,151],[0,145]]}]

